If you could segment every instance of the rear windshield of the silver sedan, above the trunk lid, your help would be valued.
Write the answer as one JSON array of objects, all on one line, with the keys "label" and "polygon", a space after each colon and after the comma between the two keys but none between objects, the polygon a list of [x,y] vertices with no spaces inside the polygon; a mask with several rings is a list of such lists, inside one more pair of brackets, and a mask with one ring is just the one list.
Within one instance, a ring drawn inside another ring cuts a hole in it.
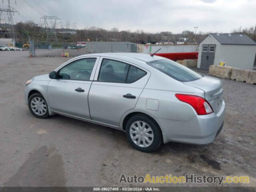
[{"label": "rear windshield of the silver sedan, above the trunk lid", "polygon": [[194,81],[203,77],[201,74],[169,59],[154,60],[147,62],[147,64],[181,82]]}]

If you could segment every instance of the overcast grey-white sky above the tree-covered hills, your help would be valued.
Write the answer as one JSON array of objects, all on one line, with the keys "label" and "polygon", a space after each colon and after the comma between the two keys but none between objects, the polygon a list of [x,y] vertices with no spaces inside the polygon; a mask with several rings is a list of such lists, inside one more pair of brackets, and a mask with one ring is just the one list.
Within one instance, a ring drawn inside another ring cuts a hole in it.
[{"label": "overcast grey-white sky above the tree-covered hills", "polygon": [[[231,32],[255,26],[256,0],[10,0],[20,12],[14,22],[40,22],[42,15],[58,16],[78,29],[96,26],[105,29],[144,32],[183,30]],[[30,4],[26,4],[26,2]],[[2,0],[0,6],[7,5]],[[34,10],[32,7],[36,10]],[[3,14],[4,15],[4,14]],[[43,20],[41,20],[43,22]]]}]

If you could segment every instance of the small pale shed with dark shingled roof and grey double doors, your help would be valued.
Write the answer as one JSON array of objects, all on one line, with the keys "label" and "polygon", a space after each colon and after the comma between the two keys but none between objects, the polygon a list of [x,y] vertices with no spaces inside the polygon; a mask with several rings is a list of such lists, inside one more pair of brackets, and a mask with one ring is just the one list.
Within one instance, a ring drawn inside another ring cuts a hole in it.
[{"label": "small pale shed with dark shingled roof and grey double doors", "polygon": [[197,67],[208,70],[220,62],[252,70],[256,65],[256,42],[245,34],[209,34],[199,43]]}]

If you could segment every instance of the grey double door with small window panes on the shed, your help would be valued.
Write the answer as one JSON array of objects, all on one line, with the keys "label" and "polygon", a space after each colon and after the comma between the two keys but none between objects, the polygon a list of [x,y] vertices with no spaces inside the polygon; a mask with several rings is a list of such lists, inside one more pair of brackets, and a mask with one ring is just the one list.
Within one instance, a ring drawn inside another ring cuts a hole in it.
[{"label": "grey double door with small window panes on the shed", "polygon": [[210,65],[214,64],[216,45],[203,45],[201,56],[201,69],[209,70]]}]

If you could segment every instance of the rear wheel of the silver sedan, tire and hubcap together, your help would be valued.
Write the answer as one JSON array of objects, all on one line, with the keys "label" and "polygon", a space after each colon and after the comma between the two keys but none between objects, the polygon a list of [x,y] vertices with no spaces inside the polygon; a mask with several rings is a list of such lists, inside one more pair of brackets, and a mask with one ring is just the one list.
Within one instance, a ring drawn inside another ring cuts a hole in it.
[{"label": "rear wheel of the silver sedan, tire and hubcap together", "polygon": [[158,124],[150,117],[138,114],[126,123],[128,142],[142,152],[153,152],[162,144],[162,132]]}]

